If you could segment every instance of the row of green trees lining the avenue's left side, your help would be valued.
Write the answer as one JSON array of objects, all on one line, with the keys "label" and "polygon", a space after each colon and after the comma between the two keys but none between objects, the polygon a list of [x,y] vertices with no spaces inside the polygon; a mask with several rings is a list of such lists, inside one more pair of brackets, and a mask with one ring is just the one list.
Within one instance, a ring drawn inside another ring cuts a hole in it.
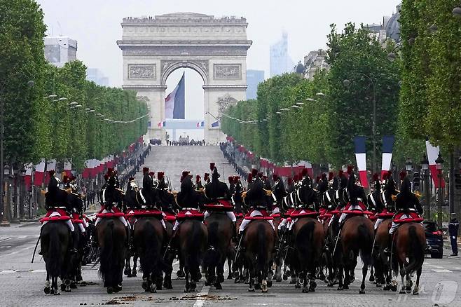
[{"label": "row of green trees lining the avenue's left side", "polygon": [[[32,0],[0,0],[0,100],[4,102],[6,163],[72,159],[77,170],[90,158],[120,153],[147,130],[146,102],[136,93],[85,80],[80,61],[62,68],[46,63],[43,13]],[[29,88],[27,81],[34,81]],[[67,100],[48,99],[48,95]],[[82,107],[71,109],[70,102]],[[88,113],[85,109],[94,109]]]}]

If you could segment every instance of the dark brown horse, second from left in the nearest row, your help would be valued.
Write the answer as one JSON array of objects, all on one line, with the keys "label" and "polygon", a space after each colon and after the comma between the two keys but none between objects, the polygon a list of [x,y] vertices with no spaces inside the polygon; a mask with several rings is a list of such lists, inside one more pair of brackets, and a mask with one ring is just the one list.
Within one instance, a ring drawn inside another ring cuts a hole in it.
[{"label": "dark brown horse, second from left in the nearest row", "polygon": [[101,247],[99,273],[107,293],[122,289],[123,264],[127,253],[127,232],[118,217],[103,218],[96,226],[97,242]]}]

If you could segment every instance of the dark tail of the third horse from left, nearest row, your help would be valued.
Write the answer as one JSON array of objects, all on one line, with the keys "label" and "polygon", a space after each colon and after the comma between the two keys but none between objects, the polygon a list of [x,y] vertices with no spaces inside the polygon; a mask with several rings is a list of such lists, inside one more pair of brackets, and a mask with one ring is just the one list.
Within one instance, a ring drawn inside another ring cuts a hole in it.
[{"label": "dark tail of the third horse from left, nearest row", "polygon": [[139,255],[139,263],[141,264],[144,273],[151,273],[156,268],[160,254],[158,254],[158,238],[156,236],[156,229],[153,227],[151,221],[144,223],[144,231],[142,233],[143,255]]}]

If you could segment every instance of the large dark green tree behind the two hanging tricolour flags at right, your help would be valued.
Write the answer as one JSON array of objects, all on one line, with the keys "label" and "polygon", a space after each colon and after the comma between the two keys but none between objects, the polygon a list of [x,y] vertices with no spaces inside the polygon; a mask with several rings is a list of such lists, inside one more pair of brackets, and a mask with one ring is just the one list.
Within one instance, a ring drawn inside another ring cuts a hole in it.
[{"label": "large dark green tree behind the two hanging tricolour flags at right", "polygon": [[[399,67],[367,29],[349,23],[342,33],[331,25],[328,36],[331,69],[326,99],[329,163],[339,167],[354,161],[353,138],[373,138],[373,100],[376,100],[376,139],[394,135],[399,95]],[[345,81],[347,80],[347,81]],[[373,152],[373,144],[369,146]],[[378,159],[377,159],[378,160]],[[379,161],[379,160],[378,160]],[[377,161],[377,162],[378,162]]]}]

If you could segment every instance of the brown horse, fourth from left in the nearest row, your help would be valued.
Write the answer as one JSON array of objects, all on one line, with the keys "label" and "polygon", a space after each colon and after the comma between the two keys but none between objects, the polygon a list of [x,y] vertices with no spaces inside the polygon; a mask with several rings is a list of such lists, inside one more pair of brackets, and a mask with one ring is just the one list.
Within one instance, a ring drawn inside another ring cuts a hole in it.
[{"label": "brown horse, fourth from left in the nearest row", "polygon": [[179,247],[179,264],[184,266],[186,273],[184,292],[195,291],[196,282],[200,279],[199,266],[207,250],[207,227],[200,220],[186,219],[179,224],[175,238]]}]

